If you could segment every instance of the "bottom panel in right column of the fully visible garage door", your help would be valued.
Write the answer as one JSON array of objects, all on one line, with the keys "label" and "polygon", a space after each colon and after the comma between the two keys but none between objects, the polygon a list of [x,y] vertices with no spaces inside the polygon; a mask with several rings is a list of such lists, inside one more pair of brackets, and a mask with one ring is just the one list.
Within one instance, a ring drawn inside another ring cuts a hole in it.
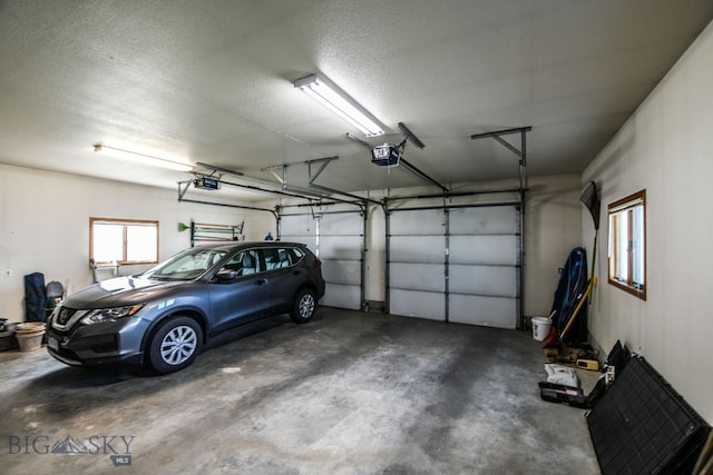
[{"label": "bottom panel in right column of the fully visible garage door", "polygon": [[448,309],[453,323],[515,329],[517,299],[451,294]]}]

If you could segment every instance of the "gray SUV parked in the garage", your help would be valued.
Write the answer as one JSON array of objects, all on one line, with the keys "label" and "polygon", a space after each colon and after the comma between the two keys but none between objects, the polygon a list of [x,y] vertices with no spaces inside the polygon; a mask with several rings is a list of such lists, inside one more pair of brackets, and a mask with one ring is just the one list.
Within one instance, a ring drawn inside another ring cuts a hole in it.
[{"label": "gray SUV parked in the garage", "polygon": [[48,318],[47,349],[68,365],[176,372],[227,329],[285,313],[310,321],[324,295],[321,264],[297,243],[186,249],[144,274],[67,297]]}]

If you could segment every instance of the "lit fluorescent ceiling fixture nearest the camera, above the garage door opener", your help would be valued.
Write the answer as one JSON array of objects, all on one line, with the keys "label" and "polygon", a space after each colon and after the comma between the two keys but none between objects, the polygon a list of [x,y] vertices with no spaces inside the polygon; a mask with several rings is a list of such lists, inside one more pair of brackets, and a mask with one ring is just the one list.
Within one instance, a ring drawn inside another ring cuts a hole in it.
[{"label": "lit fluorescent ceiling fixture nearest the camera, above the garage door opener", "polygon": [[294,87],[320,101],[332,112],[361,130],[367,137],[383,135],[383,127],[379,121],[329,80],[312,75],[295,81]]}]

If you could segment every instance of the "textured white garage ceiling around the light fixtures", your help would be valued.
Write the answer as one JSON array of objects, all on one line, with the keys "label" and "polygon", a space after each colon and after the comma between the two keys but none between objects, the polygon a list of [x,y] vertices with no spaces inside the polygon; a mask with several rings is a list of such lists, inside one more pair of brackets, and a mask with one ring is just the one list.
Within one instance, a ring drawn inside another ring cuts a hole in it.
[{"label": "textured white garage ceiling around the light fixtures", "polygon": [[[426,144],[404,157],[447,186],[517,176],[517,157],[470,136],[526,126],[529,176],[578,172],[711,19],[709,0],[0,1],[0,162],[189,177],[96,157],[105,142],[270,181],[289,165],[300,187],[306,160],[333,156],[320,185],[423,185],[346,139],[398,144],[402,121]],[[387,136],[293,87],[311,73]]]}]

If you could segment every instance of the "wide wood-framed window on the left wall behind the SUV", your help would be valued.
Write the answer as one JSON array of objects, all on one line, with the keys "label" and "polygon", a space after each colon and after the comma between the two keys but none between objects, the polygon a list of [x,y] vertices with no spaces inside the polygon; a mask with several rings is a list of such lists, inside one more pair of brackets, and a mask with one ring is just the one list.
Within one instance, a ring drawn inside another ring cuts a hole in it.
[{"label": "wide wood-framed window on the left wall behind the SUV", "polygon": [[97,266],[158,263],[158,221],[89,219],[89,258]]}]

